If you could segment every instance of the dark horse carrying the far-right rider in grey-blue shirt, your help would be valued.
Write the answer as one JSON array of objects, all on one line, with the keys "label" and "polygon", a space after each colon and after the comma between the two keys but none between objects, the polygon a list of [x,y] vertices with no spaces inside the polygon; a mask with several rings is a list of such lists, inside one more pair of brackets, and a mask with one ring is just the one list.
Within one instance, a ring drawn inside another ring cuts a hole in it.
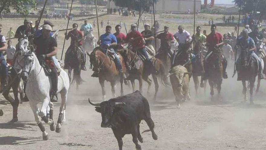
[{"label": "dark horse carrying the far-right rider in grey-blue shirt", "polygon": [[244,101],[246,102],[247,97],[247,87],[246,81],[249,82],[249,93],[250,93],[250,104],[253,104],[253,88],[258,75],[258,62],[255,58],[252,58],[249,54],[248,48],[241,47],[240,58],[237,62],[237,80],[242,81],[244,94]]}]

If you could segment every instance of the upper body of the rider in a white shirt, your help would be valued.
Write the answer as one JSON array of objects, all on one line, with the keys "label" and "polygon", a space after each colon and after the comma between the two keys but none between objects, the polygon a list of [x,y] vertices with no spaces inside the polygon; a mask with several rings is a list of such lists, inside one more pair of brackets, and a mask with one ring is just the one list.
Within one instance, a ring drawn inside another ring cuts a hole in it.
[{"label": "upper body of the rider in a white shirt", "polygon": [[192,38],[190,36],[190,33],[188,33],[184,29],[183,25],[179,25],[178,26],[178,32],[176,32],[174,34],[174,38],[178,42],[178,48],[184,46],[184,44],[187,44],[187,43],[191,43],[192,42]]}]

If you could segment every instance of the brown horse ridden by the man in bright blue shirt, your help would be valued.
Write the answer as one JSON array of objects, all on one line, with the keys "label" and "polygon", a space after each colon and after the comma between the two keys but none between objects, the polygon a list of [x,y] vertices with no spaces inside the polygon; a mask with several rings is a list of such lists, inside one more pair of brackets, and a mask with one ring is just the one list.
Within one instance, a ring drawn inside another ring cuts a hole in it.
[{"label": "brown horse ridden by the man in bright blue shirt", "polygon": [[[105,88],[104,88],[104,81],[111,82],[112,86],[112,94],[113,97],[116,97],[115,95],[115,85],[117,81],[120,81],[121,85],[121,90],[120,93],[121,95],[124,95],[123,91],[123,75],[118,72],[115,66],[115,62],[109,57],[108,55],[105,55],[102,52],[102,49],[100,47],[94,48],[94,50],[89,54],[89,61],[93,65],[94,69],[99,69],[99,83],[102,87],[102,96],[103,100],[105,100]],[[122,65],[123,72],[126,71],[125,64],[123,57],[119,55],[120,58],[120,63]]]}]

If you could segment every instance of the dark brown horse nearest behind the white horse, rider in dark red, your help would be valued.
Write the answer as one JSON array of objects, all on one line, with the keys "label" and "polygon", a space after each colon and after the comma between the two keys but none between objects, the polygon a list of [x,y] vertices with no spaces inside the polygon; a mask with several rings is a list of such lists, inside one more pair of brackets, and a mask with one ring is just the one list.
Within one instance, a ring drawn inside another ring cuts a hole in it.
[{"label": "dark brown horse nearest behind the white horse, rider in dark red", "polygon": [[[71,46],[71,45],[70,45]],[[79,49],[78,46],[71,46],[72,50],[69,52],[68,54],[68,64],[69,64],[69,68],[68,68],[68,78],[69,78],[69,82],[71,82],[71,84],[73,84],[74,82],[76,82],[76,89],[79,88],[79,85],[82,84],[82,82],[84,82],[84,80],[81,78],[81,61],[82,59],[82,54],[81,54],[81,49]],[[73,79],[71,81],[71,72],[73,70]]]}]

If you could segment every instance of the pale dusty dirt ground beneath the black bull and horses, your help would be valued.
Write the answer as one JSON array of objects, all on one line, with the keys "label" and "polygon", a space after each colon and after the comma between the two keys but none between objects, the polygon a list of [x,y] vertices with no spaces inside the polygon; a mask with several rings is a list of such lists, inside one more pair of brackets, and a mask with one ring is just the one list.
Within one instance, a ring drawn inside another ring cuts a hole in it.
[{"label": "pale dusty dirt ground beneath the black bull and horses", "polygon": [[[112,17],[112,18],[111,18]],[[104,16],[101,19],[126,22],[128,29],[132,18],[117,15]],[[72,21],[82,24],[83,18],[74,18]],[[134,18],[135,19],[135,18]],[[111,22],[114,22],[112,21]],[[64,20],[53,20],[55,28]],[[92,20],[90,20],[92,22]],[[15,23],[14,23],[15,22]],[[17,28],[23,19],[3,19],[1,23],[4,28]],[[161,26],[169,23],[177,29],[178,22],[163,22]],[[115,23],[112,23],[114,26]],[[192,25],[187,23],[186,28],[192,31]],[[65,27],[64,27],[65,28]],[[209,31],[209,27],[204,27]],[[225,33],[233,30],[233,27],[218,27],[218,31]],[[6,35],[7,31],[3,31]],[[103,29],[100,31],[103,33]],[[97,35],[96,31],[93,32]],[[63,33],[60,33],[59,49],[63,47]],[[15,43],[16,40],[13,40]],[[14,44],[13,44],[14,45]],[[69,41],[66,44],[68,47]],[[66,50],[66,49],[65,49]],[[60,56],[60,52],[58,56]],[[88,68],[88,67],[87,67]],[[155,132],[158,140],[154,141],[151,133],[143,133],[144,143],[140,143],[144,150],[184,150],[184,149],[266,149],[266,108],[265,80],[261,81],[260,91],[254,97],[254,105],[249,102],[242,103],[242,84],[232,78],[233,64],[229,61],[227,69],[229,78],[223,80],[222,101],[211,102],[209,96],[209,85],[206,92],[200,89],[199,95],[195,96],[194,83],[190,81],[191,101],[176,109],[176,103],[171,87],[160,85],[157,101],[152,100],[154,84],[152,84],[151,95],[146,94],[147,87],[143,89],[143,95],[148,98],[151,106],[151,117],[155,123]],[[88,103],[88,98],[93,102],[101,102],[102,92],[98,78],[92,78],[91,70],[82,72],[82,78],[86,81],[77,91],[72,87],[68,94],[66,105],[66,123],[62,126],[60,133],[51,132],[49,125],[44,125],[50,138],[42,140],[42,133],[34,121],[34,116],[28,102],[19,105],[18,119],[15,124],[9,124],[12,117],[12,107],[2,96],[0,97],[0,109],[4,115],[0,117],[0,149],[91,149],[112,150],[118,149],[118,143],[110,128],[101,128],[101,115]],[[137,82],[136,82],[137,83]],[[111,87],[105,82],[107,97],[111,98]],[[144,83],[146,85],[146,83]],[[138,87],[138,83],[136,84]],[[119,95],[120,86],[117,85],[116,93]],[[138,89],[138,88],[136,88]],[[125,93],[131,93],[130,87],[125,87]],[[216,92],[216,91],[215,91]],[[54,120],[57,121],[60,99],[54,103]],[[141,122],[140,130],[148,129],[146,122]],[[131,135],[123,138],[124,150],[133,150],[135,145]]]}]

